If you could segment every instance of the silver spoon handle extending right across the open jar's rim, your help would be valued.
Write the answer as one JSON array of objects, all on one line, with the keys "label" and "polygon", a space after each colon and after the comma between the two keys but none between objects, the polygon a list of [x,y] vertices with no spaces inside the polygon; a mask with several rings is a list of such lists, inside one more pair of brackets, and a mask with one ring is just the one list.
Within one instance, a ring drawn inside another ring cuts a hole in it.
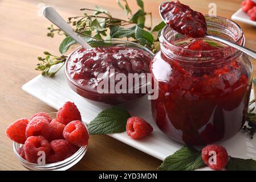
[{"label": "silver spoon handle extending right across the open jar's rim", "polygon": [[225,40],[225,39],[219,38],[217,36],[206,35],[206,37],[210,38],[210,39],[218,40],[219,42],[227,44],[228,46],[234,47],[234,48],[238,49],[239,51],[242,51],[242,52],[246,53],[247,55],[249,55],[249,56],[253,57],[254,59],[256,59],[256,52],[252,51],[251,49],[239,46],[238,44],[230,42],[229,40]]}]

